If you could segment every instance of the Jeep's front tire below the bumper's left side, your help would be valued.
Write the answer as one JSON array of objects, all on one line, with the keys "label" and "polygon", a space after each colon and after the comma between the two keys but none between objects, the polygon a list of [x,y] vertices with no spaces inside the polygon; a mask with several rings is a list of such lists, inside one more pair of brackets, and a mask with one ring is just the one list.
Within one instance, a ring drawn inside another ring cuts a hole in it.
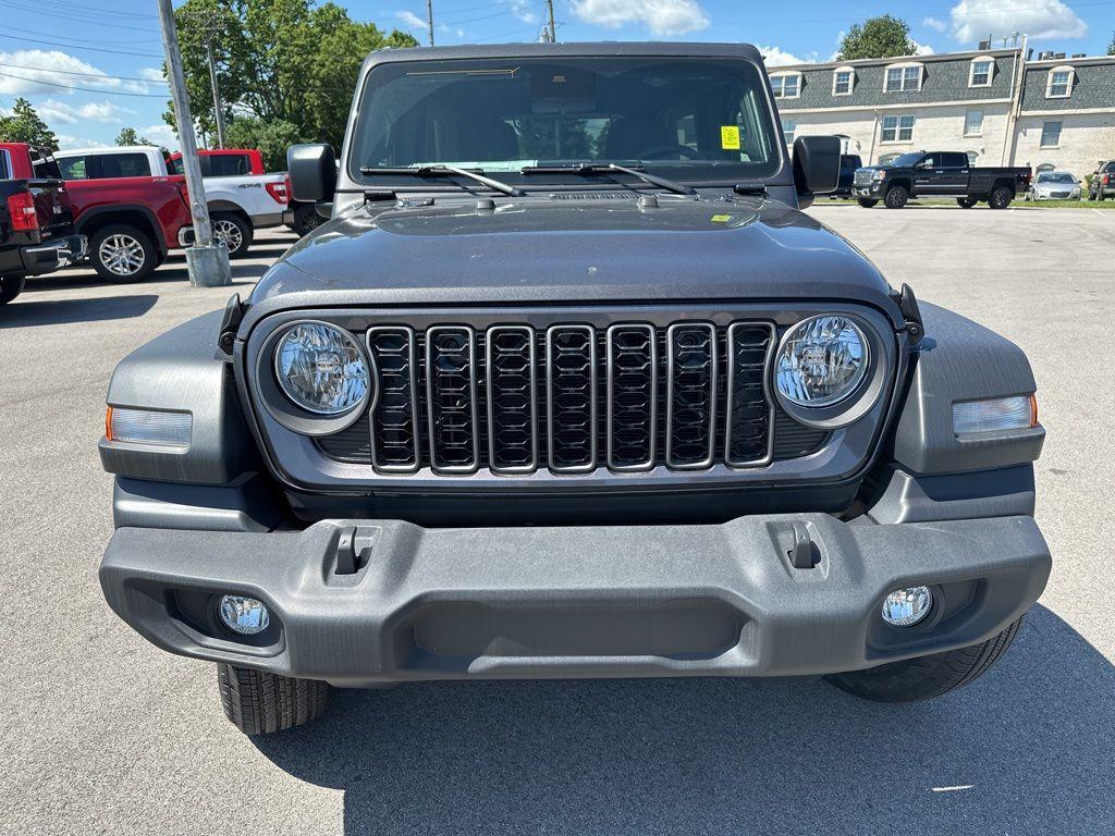
[{"label": "Jeep's front tire below the bumper's left side", "polygon": [[275,673],[216,667],[224,716],[245,735],[270,735],[309,722],[326,710],[329,683]]}]

